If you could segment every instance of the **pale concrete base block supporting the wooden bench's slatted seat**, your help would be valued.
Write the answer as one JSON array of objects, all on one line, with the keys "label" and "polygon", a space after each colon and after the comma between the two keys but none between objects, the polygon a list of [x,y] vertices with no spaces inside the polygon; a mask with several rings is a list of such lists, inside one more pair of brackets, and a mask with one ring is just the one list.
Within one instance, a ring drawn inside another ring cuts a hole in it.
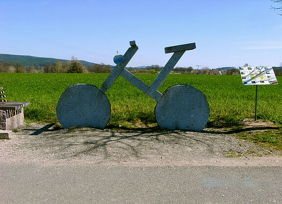
[{"label": "pale concrete base block supporting the wooden bench's slatted seat", "polygon": [[13,130],[24,125],[24,108],[0,110],[0,130]]}]

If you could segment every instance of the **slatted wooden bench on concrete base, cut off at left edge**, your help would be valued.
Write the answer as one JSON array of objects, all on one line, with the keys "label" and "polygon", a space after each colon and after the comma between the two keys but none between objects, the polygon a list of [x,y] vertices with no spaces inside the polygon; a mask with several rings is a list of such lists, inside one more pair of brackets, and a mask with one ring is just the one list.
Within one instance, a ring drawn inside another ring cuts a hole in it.
[{"label": "slatted wooden bench on concrete base, cut off at left edge", "polygon": [[7,101],[0,87],[0,130],[13,130],[24,125],[24,107],[29,102]]}]

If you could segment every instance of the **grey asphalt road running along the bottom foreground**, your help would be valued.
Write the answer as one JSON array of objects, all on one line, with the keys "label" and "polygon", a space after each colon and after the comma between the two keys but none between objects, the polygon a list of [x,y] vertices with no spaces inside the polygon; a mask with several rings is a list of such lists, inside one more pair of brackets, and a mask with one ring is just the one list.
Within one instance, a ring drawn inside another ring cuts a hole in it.
[{"label": "grey asphalt road running along the bottom foreground", "polygon": [[0,204],[282,203],[279,166],[2,162]]}]

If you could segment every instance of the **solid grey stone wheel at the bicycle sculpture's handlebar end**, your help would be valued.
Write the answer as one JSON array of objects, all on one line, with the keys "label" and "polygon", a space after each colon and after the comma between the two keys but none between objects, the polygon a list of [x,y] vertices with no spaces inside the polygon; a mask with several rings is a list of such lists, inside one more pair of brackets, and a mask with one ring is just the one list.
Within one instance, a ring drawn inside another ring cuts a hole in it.
[{"label": "solid grey stone wheel at the bicycle sculpture's handlebar end", "polygon": [[57,105],[57,116],[63,128],[87,126],[104,129],[110,115],[110,101],[93,85],[75,84],[68,87]]}]

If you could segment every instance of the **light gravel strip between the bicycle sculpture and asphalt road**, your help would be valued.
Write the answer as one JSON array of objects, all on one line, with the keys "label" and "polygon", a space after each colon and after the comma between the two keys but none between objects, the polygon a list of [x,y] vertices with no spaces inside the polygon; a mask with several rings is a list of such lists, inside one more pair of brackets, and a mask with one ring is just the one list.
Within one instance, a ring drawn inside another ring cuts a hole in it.
[{"label": "light gravel strip between the bicycle sculpture and asphalt road", "polygon": [[263,149],[235,134],[204,129],[154,132],[97,130],[87,127],[56,129],[30,123],[0,140],[1,162],[35,162],[44,165],[211,165],[282,166],[280,152]]}]

